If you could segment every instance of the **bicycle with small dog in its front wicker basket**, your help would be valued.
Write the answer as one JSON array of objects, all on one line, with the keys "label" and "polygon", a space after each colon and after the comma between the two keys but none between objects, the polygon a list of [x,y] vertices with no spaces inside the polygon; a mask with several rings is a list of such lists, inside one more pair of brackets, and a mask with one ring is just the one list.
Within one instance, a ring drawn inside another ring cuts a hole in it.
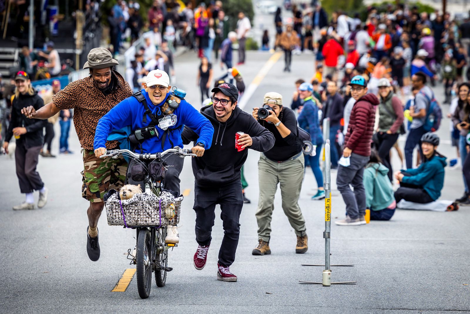
[{"label": "bicycle with small dog in its front wicker basket", "polygon": [[[177,197],[170,201],[162,200],[162,181],[167,169],[162,157],[169,154],[179,155],[183,158],[185,156],[196,157],[196,154],[190,152],[191,149],[181,149],[176,146],[157,154],[136,154],[128,149],[113,149],[101,156],[101,158],[123,156],[137,161],[145,172],[139,174],[144,176],[146,190],[148,188],[158,198],[158,201],[141,200],[124,206],[121,200],[116,202],[114,199],[110,201],[108,198],[105,201],[108,225],[137,229],[135,253],[131,254],[131,249],[129,249],[127,258],[131,259],[131,264],[136,265],[137,290],[141,298],[148,298],[150,295],[152,272],[155,272],[157,286],[163,287],[165,285],[166,274],[172,271],[172,268],[168,267],[168,250],[178,246],[177,244],[165,243],[166,226],[176,225],[179,222],[183,197]],[[149,164],[147,165],[145,162],[149,162]],[[155,165],[151,166],[152,164]],[[157,173],[152,169],[157,169]],[[164,204],[163,213],[162,204]],[[171,216],[166,214],[168,207],[172,212]]]}]

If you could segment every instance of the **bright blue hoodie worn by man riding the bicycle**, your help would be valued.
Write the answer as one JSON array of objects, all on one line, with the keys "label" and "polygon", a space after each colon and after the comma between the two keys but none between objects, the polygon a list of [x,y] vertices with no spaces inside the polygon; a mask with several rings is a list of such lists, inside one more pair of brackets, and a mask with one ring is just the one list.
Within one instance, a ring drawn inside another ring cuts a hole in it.
[{"label": "bright blue hoodie worn by man riding the bicycle", "polygon": [[[149,94],[145,91],[145,89],[142,89],[141,92],[147,100],[150,111],[152,111],[155,116],[157,116],[157,112],[160,110],[160,107],[164,104],[166,98],[170,95],[170,93],[166,94],[164,101],[156,106],[150,101]],[[147,124],[144,125],[142,123],[144,112],[144,106],[141,102],[135,99],[135,97],[131,96],[122,102],[119,102],[98,122],[94,134],[94,149],[105,147],[106,138],[113,130],[119,130],[125,126],[131,126],[132,130],[149,126],[151,123],[150,117],[147,117]],[[173,114],[177,117],[176,125],[168,128],[168,130],[170,130],[169,139],[173,142],[173,146],[183,147],[181,131],[183,126],[187,125],[198,134],[199,137],[196,143],[203,143],[205,149],[211,148],[214,128],[207,118],[205,118],[201,113],[199,113],[199,111],[197,111],[185,100],[180,102],[180,105],[173,111]],[[155,126],[155,128],[158,132],[158,136],[154,136],[143,141],[142,152],[144,153],[157,153],[162,151],[161,139],[165,131],[163,131],[158,126]],[[169,139],[165,139],[164,149],[173,148]],[[140,150],[136,151],[140,152]]]}]

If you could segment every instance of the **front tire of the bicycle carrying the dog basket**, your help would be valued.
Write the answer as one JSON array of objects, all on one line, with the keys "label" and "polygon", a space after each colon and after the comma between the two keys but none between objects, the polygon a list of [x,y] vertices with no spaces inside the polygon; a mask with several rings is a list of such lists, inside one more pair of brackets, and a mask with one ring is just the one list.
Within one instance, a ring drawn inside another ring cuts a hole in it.
[{"label": "front tire of the bicycle carrying the dog basket", "polygon": [[149,298],[152,286],[152,260],[149,229],[139,230],[137,237],[136,268],[137,268],[137,290],[143,299]]}]

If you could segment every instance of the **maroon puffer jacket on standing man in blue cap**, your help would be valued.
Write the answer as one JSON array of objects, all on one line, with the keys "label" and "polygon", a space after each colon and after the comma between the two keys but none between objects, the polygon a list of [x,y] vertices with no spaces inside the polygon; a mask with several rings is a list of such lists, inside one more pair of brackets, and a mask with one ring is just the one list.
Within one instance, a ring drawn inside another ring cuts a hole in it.
[{"label": "maroon puffer jacket on standing man in blue cap", "polygon": [[376,120],[375,106],[378,104],[379,100],[376,95],[367,94],[352,107],[345,143],[346,147],[355,154],[370,156],[370,143]]}]

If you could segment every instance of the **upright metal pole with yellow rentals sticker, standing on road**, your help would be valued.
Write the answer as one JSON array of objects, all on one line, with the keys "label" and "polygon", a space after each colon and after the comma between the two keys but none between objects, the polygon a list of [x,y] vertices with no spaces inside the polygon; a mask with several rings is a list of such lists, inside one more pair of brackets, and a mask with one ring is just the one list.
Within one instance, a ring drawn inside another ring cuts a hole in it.
[{"label": "upright metal pole with yellow rentals sticker, standing on road", "polygon": [[[328,123],[329,124],[329,123]],[[330,245],[330,231],[331,231],[331,166],[330,166],[330,142],[329,139],[325,142],[325,182],[323,188],[325,189],[325,231],[323,238],[325,239],[325,271],[330,270],[329,264],[329,245]],[[325,278],[325,276],[323,276]],[[330,285],[323,281],[323,285]]]}]

